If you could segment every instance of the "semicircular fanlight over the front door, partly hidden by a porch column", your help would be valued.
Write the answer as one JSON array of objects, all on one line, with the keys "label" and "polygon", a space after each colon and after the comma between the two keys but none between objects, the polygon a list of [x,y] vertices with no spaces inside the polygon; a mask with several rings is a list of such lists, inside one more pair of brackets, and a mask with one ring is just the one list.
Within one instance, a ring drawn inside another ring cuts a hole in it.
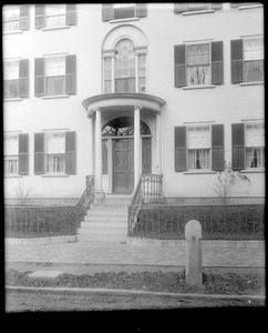
[{"label": "semicircular fanlight over the front door, partly hidden by a porch column", "polygon": [[[102,130],[103,137],[131,137],[134,135],[133,117],[120,117],[111,120]],[[148,125],[141,120],[141,135],[151,135]]]}]

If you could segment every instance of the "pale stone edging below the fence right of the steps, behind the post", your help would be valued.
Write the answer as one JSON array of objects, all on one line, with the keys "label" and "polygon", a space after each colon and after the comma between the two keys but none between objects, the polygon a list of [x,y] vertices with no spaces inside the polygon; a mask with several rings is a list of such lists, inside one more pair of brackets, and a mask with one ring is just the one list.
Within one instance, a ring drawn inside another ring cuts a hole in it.
[{"label": "pale stone edging below the fence right of the steps, behind the post", "polygon": [[[185,240],[148,240],[142,238],[127,238],[126,243],[132,246],[155,248],[185,248]],[[265,241],[202,241],[204,248],[228,249],[264,249]]]}]

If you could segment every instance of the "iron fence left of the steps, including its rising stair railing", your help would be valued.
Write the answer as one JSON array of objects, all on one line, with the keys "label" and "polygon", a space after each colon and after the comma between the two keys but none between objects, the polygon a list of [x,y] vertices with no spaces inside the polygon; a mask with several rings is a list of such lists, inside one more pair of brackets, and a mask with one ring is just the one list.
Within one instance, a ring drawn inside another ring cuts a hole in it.
[{"label": "iron fence left of the steps, including its rising stair railing", "polygon": [[6,205],[7,238],[74,235],[94,199],[94,176],[86,176],[86,188],[75,205]]}]

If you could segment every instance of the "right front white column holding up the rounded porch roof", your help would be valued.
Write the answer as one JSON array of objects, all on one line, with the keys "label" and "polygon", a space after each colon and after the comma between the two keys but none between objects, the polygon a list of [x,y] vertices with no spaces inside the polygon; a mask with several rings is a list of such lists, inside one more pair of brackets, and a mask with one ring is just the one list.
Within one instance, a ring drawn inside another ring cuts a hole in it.
[{"label": "right front white column holding up the rounded porch roof", "polygon": [[141,174],[141,114],[140,108],[134,107],[134,188],[136,188]]}]

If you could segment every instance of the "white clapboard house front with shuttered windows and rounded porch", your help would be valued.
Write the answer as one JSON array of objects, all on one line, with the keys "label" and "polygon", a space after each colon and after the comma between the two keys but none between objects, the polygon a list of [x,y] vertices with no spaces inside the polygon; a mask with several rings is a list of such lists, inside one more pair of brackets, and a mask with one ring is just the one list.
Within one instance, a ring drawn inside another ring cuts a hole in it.
[{"label": "white clapboard house front with shuttered windows and rounded porch", "polygon": [[[74,204],[162,175],[171,199],[217,196],[225,162],[265,198],[264,7],[3,6],[4,199]],[[24,191],[24,192],[23,192]]]}]

